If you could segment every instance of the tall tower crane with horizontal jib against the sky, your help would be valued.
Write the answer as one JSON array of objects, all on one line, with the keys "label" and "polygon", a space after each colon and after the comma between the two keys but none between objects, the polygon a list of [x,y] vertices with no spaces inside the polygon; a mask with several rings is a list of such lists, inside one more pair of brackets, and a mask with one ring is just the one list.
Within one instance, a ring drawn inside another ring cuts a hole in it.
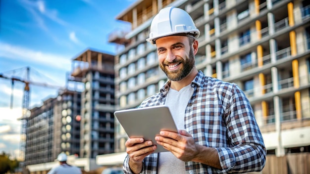
[{"label": "tall tower crane with horizontal jib against the sky", "polygon": [[[14,71],[14,70],[13,70]],[[50,85],[47,83],[41,82],[33,82],[30,81],[30,67],[26,67],[26,76],[24,79],[15,77],[15,76],[5,76],[2,73],[0,74],[0,78],[11,80],[11,96],[10,96],[10,108],[13,107],[13,89],[14,89],[14,82],[21,82],[25,84],[23,90],[23,98],[22,98],[22,116],[18,119],[21,123],[21,139],[20,139],[20,157],[25,157],[25,150],[26,150],[26,128],[27,128],[27,118],[30,116],[29,111],[29,102],[30,102],[30,85],[40,86],[40,87],[50,87],[61,89],[61,86]],[[21,162],[20,167],[24,167],[24,163]]]}]

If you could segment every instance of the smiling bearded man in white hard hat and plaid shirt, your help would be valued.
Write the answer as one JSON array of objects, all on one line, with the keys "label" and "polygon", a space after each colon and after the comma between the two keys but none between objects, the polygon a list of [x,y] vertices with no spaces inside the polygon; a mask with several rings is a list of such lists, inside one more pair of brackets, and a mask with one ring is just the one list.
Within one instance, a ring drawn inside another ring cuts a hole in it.
[{"label": "smiling bearded man in white hard hat and plaid shirt", "polygon": [[180,8],[159,11],[148,42],[156,44],[159,67],[168,82],[140,107],[166,105],[179,133],[160,131],[156,145],[129,138],[126,174],[218,174],[261,171],[265,146],[253,109],[236,85],[206,77],[195,67],[199,30]]}]

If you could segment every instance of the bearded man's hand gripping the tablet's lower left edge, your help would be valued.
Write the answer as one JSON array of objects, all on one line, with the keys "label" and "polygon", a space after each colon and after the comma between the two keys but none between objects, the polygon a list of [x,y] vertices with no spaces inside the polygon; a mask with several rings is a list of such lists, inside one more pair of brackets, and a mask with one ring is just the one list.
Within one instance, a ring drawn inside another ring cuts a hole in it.
[{"label": "bearded man's hand gripping the tablet's lower left edge", "polygon": [[143,159],[153,153],[157,148],[152,141],[144,141],[143,138],[129,138],[126,143],[126,152],[129,155],[129,167],[131,172],[139,174],[142,170]]}]

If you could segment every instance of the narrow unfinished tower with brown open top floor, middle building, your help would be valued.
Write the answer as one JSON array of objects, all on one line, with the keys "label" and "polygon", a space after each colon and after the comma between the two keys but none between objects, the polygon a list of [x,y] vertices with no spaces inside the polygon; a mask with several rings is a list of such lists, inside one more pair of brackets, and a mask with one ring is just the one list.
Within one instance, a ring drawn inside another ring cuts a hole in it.
[{"label": "narrow unfinished tower with brown open top floor, middle building", "polygon": [[114,152],[114,56],[87,49],[73,59],[72,81],[81,94],[80,155],[95,158]]}]

